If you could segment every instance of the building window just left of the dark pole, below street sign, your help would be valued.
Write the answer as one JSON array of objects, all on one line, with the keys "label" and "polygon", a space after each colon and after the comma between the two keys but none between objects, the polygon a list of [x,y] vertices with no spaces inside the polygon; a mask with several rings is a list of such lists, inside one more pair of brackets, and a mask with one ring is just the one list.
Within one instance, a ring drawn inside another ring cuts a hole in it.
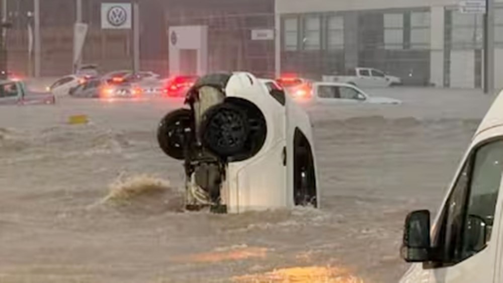
[{"label": "building window just left of the dark pole, below street sign", "polygon": [[451,44],[452,49],[482,48],[483,15],[452,12]]}]

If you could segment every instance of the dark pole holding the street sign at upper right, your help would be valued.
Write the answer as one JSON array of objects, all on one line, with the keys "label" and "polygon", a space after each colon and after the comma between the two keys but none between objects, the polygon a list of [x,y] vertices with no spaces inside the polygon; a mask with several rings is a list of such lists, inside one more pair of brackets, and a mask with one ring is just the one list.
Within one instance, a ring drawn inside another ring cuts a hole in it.
[{"label": "dark pole holding the street sign at upper right", "polygon": [[484,93],[494,91],[494,0],[486,0],[484,15]]}]

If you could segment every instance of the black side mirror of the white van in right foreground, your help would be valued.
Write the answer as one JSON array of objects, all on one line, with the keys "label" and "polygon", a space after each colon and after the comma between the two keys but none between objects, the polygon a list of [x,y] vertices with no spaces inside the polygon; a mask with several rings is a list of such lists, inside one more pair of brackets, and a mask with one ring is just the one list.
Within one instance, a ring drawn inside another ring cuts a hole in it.
[{"label": "black side mirror of the white van in right foreground", "polygon": [[407,262],[429,261],[430,249],[430,211],[409,213],[405,219],[403,244],[400,248],[402,258]]}]

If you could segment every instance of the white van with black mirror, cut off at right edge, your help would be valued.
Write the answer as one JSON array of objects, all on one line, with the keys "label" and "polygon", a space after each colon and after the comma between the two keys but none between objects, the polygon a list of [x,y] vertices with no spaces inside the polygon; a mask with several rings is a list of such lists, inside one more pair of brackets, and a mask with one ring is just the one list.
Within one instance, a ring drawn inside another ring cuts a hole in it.
[{"label": "white van with black mirror, cut off at right edge", "polygon": [[503,282],[503,95],[473,136],[430,230],[430,212],[407,216],[400,282]]}]

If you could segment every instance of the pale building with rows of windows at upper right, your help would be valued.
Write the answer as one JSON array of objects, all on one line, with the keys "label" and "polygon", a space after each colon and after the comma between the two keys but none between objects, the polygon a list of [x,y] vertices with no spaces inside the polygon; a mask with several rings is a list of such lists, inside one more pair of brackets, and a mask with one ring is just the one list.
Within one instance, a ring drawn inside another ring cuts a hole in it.
[{"label": "pale building with rows of windows at upper right", "polygon": [[[503,1],[495,1],[495,84],[503,87]],[[455,0],[276,0],[276,69],[314,79],[375,67],[410,85],[482,84],[483,15]]]}]

